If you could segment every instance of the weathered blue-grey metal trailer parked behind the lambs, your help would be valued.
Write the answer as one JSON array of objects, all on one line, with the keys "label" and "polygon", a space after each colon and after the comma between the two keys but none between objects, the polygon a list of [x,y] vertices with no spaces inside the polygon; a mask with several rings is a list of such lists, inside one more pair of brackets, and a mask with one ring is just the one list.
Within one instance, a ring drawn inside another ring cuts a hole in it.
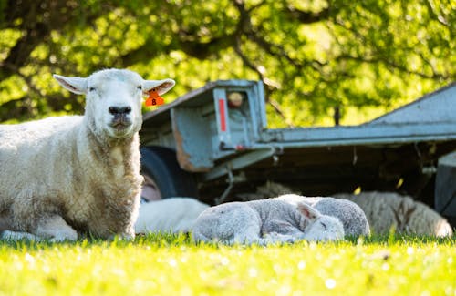
[{"label": "weathered blue-grey metal trailer parked behind the lambs", "polygon": [[308,196],[400,191],[456,216],[440,181],[451,174],[444,193],[434,186],[438,159],[456,150],[456,84],[358,126],[267,128],[262,82],[214,81],[147,113],[140,139],[157,198],[220,203],[271,180]]}]

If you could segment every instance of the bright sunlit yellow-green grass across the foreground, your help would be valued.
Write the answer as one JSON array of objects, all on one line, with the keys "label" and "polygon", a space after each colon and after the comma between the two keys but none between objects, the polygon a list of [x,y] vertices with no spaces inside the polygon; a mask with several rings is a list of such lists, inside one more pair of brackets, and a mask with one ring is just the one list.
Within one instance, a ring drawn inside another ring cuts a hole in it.
[{"label": "bright sunlit yellow-green grass across the foreground", "polygon": [[456,295],[456,238],[264,247],[0,241],[0,295]]}]

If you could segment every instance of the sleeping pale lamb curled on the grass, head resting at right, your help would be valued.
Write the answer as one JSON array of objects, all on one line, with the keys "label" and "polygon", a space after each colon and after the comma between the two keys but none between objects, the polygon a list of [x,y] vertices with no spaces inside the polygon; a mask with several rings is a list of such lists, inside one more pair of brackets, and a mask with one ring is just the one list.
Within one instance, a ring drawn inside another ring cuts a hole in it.
[{"label": "sleeping pale lamb curled on the grass, head resting at right", "polygon": [[283,200],[229,202],[206,209],[193,226],[193,240],[225,244],[341,240],[344,227],[334,217],[320,214],[305,202]]}]

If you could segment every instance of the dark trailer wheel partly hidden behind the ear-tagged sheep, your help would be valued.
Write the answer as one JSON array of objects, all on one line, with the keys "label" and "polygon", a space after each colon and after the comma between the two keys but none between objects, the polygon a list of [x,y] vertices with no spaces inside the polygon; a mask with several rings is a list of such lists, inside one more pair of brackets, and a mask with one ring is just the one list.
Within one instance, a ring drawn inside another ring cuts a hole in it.
[{"label": "dark trailer wheel partly hidden behind the ear-tagged sheep", "polygon": [[140,148],[141,174],[144,176],[141,196],[146,200],[198,196],[191,173],[181,169],[176,153],[170,148]]}]

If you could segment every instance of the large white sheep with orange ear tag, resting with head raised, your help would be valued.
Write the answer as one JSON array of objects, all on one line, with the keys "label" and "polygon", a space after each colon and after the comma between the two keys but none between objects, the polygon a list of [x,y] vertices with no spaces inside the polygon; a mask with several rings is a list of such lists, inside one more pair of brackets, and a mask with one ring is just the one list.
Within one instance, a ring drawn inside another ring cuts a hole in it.
[{"label": "large white sheep with orange ear tag, resting with head raised", "polygon": [[56,241],[84,233],[132,239],[143,180],[141,98],[175,83],[125,69],[54,77],[86,95],[85,114],[0,126],[0,224],[7,235]]}]

